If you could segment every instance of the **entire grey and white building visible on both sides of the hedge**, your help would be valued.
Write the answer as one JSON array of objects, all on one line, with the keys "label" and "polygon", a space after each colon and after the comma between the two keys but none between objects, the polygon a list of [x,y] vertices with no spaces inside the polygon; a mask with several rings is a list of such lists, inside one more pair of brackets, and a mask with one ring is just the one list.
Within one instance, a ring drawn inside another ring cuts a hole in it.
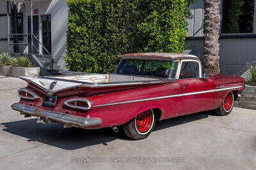
[{"label": "entire grey and white building visible on both sides of the hedge", "polygon": [[[221,0],[220,5],[220,67],[221,73],[239,74],[247,62],[256,61],[256,0]],[[29,0],[10,1],[10,32],[29,33],[31,8]],[[0,53],[8,52],[8,26],[6,0],[0,0]],[[13,6],[17,8],[13,13]],[[185,42],[184,53],[197,55],[202,59],[204,45],[204,0],[195,0],[190,6],[193,18],[188,20],[189,37]],[[12,16],[17,17],[13,22]],[[54,60],[65,68],[66,33],[68,7],[63,0],[33,0],[33,33],[47,48]],[[14,24],[13,24],[14,23]],[[16,24],[15,24],[16,23]],[[15,30],[16,29],[16,30]],[[10,36],[10,43],[15,40]],[[20,45],[10,45],[10,52],[31,53],[31,40],[28,36],[18,37]],[[17,41],[17,37],[16,37]],[[22,45],[23,43],[23,45]],[[45,50],[34,42],[40,53]],[[14,46],[14,47],[13,47]],[[18,49],[17,49],[18,48]],[[37,53],[33,51],[34,53]]]}]

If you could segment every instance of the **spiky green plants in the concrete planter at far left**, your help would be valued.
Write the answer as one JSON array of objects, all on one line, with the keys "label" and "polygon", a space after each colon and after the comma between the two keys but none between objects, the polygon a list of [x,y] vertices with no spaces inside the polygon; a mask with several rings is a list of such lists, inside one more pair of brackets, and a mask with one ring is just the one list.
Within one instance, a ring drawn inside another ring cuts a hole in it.
[{"label": "spiky green plants in the concrete planter at far left", "polygon": [[16,66],[16,67],[33,67],[33,63],[28,56],[12,57],[8,53],[0,55],[1,66]]}]

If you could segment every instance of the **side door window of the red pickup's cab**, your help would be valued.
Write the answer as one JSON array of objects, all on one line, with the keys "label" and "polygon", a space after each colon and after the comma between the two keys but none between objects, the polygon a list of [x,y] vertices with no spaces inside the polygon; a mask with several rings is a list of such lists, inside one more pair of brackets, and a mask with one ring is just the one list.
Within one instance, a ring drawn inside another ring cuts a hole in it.
[{"label": "side door window of the red pickup's cab", "polygon": [[195,61],[182,62],[179,79],[199,78],[199,64]]}]

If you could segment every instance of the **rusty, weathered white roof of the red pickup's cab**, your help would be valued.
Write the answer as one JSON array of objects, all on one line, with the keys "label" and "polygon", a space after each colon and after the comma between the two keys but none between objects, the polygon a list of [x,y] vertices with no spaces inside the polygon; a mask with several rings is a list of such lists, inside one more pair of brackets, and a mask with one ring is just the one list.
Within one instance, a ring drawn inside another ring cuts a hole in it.
[{"label": "rusty, weathered white roof of the red pickup's cab", "polygon": [[177,59],[198,59],[195,55],[184,53],[126,53],[120,55],[123,59],[162,59],[162,60],[177,60]]}]

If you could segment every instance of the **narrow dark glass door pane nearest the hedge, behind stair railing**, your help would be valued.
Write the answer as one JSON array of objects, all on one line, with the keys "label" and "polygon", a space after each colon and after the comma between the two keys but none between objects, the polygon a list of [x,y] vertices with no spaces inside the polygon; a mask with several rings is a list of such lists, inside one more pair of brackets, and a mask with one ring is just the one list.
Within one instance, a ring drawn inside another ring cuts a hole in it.
[{"label": "narrow dark glass door pane nearest the hedge, behind stair railing", "polygon": [[[43,45],[51,53],[51,15],[42,15],[41,22]],[[44,49],[43,53],[48,54]]]}]

